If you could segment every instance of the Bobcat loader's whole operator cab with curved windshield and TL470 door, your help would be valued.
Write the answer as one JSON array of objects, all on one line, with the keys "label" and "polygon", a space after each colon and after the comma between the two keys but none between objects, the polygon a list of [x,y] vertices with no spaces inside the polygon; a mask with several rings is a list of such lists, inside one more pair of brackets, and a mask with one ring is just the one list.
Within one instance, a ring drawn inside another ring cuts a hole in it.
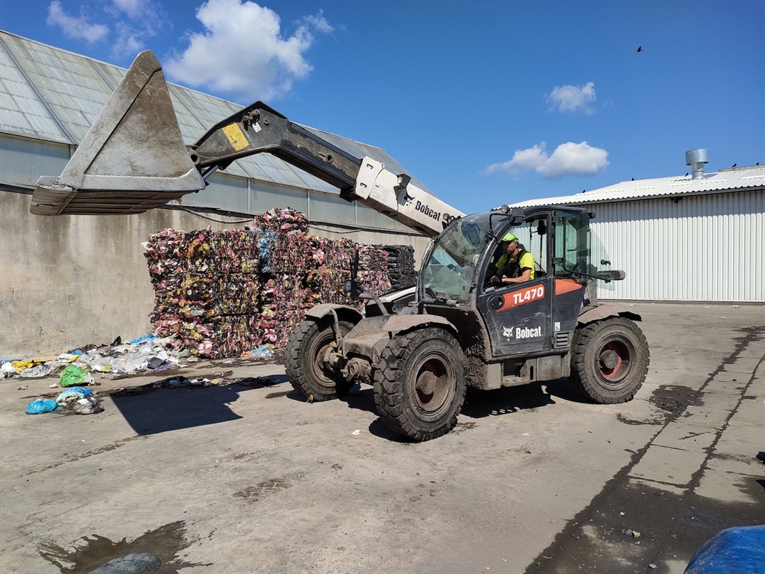
[{"label": "Bobcat loader's whole operator cab with curved windshield and TL470 door", "polygon": [[[459,320],[460,309],[463,316],[476,309],[493,357],[565,354],[581,307],[594,300],[595,282],[620,279],[608,268],[590,218],[577,207],[504,208],[461,217],[425,253],[418,298],[428,312],[451,320]],[[506,233],[514,233],[533,257],[529,281],[490,282],[499,273]]]}]

